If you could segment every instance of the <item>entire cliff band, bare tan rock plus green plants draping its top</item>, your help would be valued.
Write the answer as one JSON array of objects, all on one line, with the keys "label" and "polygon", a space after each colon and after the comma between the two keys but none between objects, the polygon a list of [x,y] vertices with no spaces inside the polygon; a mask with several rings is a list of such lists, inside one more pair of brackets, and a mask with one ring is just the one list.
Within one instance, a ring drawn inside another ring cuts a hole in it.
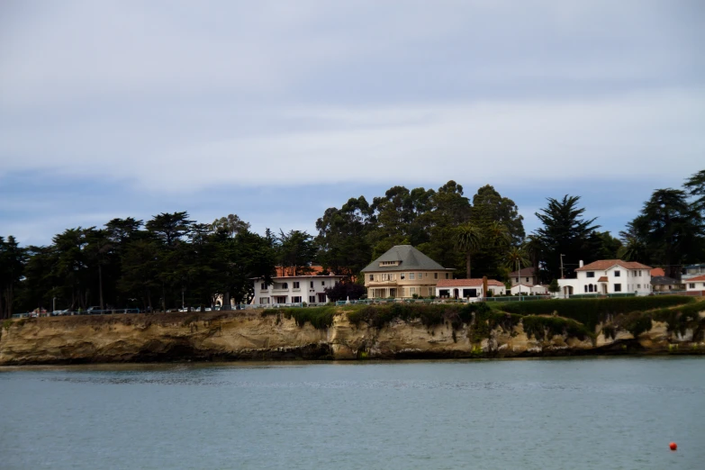
[{"label": "entire cliff band, bare tan rock plus green plants draping its top", "polygon": [[346,305],[5,321],[0,364],[703,354],[685,296]]}]

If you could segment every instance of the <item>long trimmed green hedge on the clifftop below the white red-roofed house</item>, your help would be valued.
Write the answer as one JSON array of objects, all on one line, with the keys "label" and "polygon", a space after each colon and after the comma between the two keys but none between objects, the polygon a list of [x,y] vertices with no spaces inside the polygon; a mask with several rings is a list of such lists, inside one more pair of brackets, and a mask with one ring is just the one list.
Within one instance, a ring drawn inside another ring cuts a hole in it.
[{"label": "long trimmed green hedge on the clifftop below the white red-roofed house", "polygon": [[494,306],[502,312],[520,315],[558,315],[580,321],[593,331],[601,321],[619,313],[646,312],[692,303],[695,299],[683,295],[647,297],[615,297],[606,299],[550,299],[536,302],[499,303]]}]

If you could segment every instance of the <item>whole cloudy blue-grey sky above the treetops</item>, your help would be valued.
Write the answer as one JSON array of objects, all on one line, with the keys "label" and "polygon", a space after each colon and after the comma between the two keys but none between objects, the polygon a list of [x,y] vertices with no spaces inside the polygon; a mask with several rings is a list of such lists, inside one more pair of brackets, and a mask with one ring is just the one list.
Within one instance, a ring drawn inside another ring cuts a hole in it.
[{"label": "whole cloudy blue-grey sky above the treetops", "polygon": [[314,231],[494,185],[617,232],[705,168],[705,3],[0,2],[0,235],[237,213]]}]

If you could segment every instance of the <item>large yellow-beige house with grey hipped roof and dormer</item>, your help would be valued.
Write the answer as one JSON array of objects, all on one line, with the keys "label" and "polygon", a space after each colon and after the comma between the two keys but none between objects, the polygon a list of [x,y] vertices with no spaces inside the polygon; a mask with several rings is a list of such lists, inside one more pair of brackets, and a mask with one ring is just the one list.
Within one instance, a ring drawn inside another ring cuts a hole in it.
[{"label": "large yellow-beige house with grey hipped roof and dormer", "polygon": [[407,299],[414,294],[436,295],[438,281],[450,279],[452,271],[411,245],[397,245],[375,259],[362,273],[368,299]]}]

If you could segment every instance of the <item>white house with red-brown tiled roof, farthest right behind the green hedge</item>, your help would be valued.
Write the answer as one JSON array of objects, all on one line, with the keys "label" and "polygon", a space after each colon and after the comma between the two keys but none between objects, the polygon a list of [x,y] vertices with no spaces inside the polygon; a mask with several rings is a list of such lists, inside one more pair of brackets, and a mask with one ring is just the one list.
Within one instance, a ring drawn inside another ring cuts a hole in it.
[{"label": "white house with red-brown tiled roof, farthest right behind the green hedge", "polygon": [[560,295],[650,294],[651,267],[634,261],[601,259],[575,269],[577,278],[558,279]]}]

